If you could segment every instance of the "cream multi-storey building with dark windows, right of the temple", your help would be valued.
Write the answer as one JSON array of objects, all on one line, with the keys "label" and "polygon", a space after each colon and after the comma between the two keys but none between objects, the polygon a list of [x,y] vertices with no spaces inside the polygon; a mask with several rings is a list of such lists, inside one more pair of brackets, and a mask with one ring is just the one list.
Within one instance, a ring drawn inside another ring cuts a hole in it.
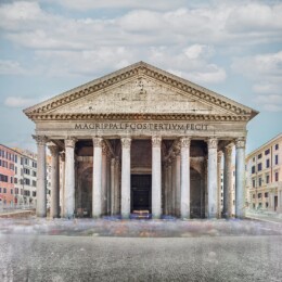
[{"label": "cream multi-storey building with dark windows, right of the temple", "polygon": [[249,207],[282,213],[282,133],[246,157]]}]

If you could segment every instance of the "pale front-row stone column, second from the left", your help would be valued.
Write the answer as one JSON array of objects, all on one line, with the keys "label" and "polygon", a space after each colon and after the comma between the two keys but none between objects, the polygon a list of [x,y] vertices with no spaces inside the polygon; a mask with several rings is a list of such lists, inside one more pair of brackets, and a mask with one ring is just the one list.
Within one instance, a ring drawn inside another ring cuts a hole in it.
[{"label": "pale front-row stone column, second from the left", "polygon": [[75,138],[65,139],[65,217],[75,214]]}]

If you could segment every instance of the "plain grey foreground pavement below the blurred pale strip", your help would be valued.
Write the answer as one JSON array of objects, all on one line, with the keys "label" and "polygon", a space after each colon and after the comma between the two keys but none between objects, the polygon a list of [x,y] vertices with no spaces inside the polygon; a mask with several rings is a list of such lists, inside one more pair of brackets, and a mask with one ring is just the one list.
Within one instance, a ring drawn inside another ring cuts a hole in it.
[{"label": "plain grey foreground pavement below the blurred pale strip", "polygon": [[282,281],[282,236],[0,235],[5,281]]}]

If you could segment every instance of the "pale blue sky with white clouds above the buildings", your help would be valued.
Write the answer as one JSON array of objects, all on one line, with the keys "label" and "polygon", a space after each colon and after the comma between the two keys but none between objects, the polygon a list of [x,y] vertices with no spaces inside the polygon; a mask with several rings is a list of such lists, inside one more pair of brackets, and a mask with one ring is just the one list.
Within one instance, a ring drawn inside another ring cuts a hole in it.
[{"label": "pale blue sky with white clouds above the buildings", "polygon": [[0,0],[0,143],[35,151],[23,110],[144,61],[259,111],[282,132],[282,1]]}]

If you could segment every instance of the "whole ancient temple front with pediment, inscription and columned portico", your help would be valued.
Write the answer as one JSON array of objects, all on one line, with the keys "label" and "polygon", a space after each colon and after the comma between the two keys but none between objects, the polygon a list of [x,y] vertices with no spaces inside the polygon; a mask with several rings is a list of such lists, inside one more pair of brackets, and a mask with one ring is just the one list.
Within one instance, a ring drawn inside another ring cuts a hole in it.
[{"label": "whole ancient temple front with pediment, inscription and columned portico", "polygon": [[24,113],[36,124],[38,217],[47,216],[47,146],[51,217],[230,217],[233,150],[235,216],[245,216],[253,108],[139,62]]}]

